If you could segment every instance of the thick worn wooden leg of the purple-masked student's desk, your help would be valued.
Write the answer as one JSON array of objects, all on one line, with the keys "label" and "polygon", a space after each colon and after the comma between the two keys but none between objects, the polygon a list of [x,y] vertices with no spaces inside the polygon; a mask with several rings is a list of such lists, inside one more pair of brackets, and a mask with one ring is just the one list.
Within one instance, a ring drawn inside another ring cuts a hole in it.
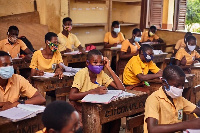
[{"label": "thick worn wooden leg of the purple-masked student's desk", "polygon": [[101,133],[102,125],[100,123],[99,108],[91,103],[82,104],[82,119],[84,133]]}]

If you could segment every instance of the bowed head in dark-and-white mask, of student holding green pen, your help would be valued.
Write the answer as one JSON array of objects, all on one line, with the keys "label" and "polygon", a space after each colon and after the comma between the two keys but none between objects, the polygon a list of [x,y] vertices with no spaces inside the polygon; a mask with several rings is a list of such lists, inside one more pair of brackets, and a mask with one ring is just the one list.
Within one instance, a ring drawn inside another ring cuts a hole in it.
[{"label": "bowed head in dark-and-white mask, of student holding green pen", "polygon": [[153,60],[153,47],[149,44],[142,44],[139,49],[140,59],[143,62],[150,62]]}]

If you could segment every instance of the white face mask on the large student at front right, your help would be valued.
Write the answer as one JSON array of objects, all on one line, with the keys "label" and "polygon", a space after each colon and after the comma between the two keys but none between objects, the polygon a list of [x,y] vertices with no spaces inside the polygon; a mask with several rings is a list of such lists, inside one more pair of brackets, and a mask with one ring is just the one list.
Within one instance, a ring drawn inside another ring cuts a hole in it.
[{"label": "white face mask on the large student at front right", "polygon": [[168,85],[168,88],[166,86],[164,86],[165,92],[167,93],[167,95],[169,95],[171,98],[178,98],[178,97],[182,96],[184,88],[183,89],[179,89],[177,87],[170,86],[168,84],[167,80],[165,80],[165,82]]}]

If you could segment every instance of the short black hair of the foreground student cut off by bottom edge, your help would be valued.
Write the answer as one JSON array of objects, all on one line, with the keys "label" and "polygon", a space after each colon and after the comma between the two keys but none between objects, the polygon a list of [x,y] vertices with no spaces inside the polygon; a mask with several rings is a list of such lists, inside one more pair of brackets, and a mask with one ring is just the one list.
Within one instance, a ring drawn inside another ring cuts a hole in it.
[{"label": "short black hair of the foreground student cut off by bottom edge", "polygon": [[42,115],[44,126],[49,129],[61,131],[71,119],[71,114],[75,111],[74,107],[65,101],[54,101],[47,105]]}]

